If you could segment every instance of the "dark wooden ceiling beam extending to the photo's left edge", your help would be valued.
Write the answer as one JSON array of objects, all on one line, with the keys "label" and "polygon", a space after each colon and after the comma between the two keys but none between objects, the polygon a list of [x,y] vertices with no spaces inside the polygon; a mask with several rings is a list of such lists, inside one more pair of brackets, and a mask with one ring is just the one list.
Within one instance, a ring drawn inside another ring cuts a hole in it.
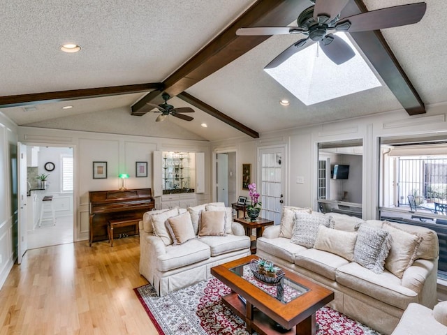
[{"label": "dark wooden ceiling beam extending to the photo's left edge", "polygon": [[116,96],[119,94],[133,94],[163,89],[161,82],[147,84],[133,84],[112,87],[97,87],[94,89],[72,89],[68,91],[54,91],[17,96],[0,96],[0,108],[36,105],[38,103],[55,103],[99,96]]}]

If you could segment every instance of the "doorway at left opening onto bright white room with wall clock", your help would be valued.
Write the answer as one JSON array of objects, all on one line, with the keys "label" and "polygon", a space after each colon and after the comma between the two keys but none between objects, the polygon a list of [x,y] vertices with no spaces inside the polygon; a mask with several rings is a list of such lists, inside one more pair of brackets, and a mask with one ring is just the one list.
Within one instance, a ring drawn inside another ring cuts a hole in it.
[{"label": "doorway at left opening onto bright white room with wall clock", "polygon": [[73,243],[73,148],[28,145],[27,158],[28,248]]}]

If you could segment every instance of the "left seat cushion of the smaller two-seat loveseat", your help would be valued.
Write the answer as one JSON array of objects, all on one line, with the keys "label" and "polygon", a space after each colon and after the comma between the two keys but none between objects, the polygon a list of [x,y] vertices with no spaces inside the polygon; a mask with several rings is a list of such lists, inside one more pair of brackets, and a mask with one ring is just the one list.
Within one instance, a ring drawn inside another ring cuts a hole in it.
[{"label": "left seat cushion of the smaller two-seat loveseat", "polygon": [[209,246],[198,239],[190,239],[184,244],[166,246],[166,253],[158,256],[156,267],[159,271],[166,272],[207,260],[210,255]]}]

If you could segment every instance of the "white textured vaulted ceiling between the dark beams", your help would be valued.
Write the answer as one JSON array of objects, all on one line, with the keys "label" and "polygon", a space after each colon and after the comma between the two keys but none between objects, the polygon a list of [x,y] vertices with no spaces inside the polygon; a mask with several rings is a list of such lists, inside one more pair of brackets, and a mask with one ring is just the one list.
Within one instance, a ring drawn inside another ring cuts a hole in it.
[{"label": "white textured vaulted ceiling between the dark beams", "polygon": [[[369,10],[418,1],[364,0]],[[0,96],[69,89],[162,82],[253,0],[194,1],[5,1],[0,12]],[[426,0],[418,24],[382,31],[425,105],[447,101],[447,1]],[[303,9],[311,3],[303,1]],[[297,13],[298,16],[299,13]],[[302,36],[272,36],[187,93],[260,133],[402,109],[388,87],[306,106],[263,71],[282,50]],[[59,45],[82,46],[76,54]],[[342,80],[342,78],[340,78]],[[345,79],[346,80],[346,79]],[[240,131],[193,107],[191,122],[158,114],[131,116],[144,94],[36,104],[36,110],[8,107],[0,112],[18,125],[85,131],[133,133],[193,140],[240,137]],[[291,105],[283,107],[279,100]],[[170,103],[191,107],[179,98]],[[62,110],[63,105],[73,105]],[[108,117],[104,117],[108,116]],[[205,122],[208,128],[200,127]],[[181,131],[180,131],[181,129]]]}]

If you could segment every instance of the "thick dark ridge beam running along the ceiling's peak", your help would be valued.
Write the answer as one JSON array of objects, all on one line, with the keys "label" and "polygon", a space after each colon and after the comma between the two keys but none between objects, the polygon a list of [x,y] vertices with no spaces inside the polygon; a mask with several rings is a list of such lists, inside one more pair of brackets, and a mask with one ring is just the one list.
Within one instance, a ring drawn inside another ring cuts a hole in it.
[{"label": "thick dark ridge beam running along the ceiling's peak", "polygon": [[[270,36],[237,36],[236,30],[250,26],[285,26],[296,20],[300,1],[258,0],[219,36],[205,45],[195,56],[163,81],[164,91],[170,96],[189,89],[200,80],[216,72]],[[161,96],[145,96],[132,106],[132,114],[144,110],[145,103],[162,102]],[[138,113],[141,114],[141,113]],[[143,113],[144,114],[144,113]]]}]

